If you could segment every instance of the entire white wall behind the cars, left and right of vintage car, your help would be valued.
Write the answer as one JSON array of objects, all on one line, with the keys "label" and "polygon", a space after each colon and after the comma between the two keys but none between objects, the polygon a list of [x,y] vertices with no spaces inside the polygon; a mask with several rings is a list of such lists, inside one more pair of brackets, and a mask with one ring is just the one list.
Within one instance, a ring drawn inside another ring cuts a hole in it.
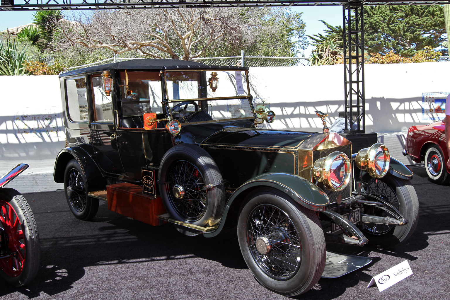
[{"label": "entire white wall behind the cars, left and right of vintage car", "polygon": [[[422,118],[422,93],[450,92],[446,67],[450,62],[366,64],[366,132],[405,132],[430,123]],[[250,83],[255,103],[270,103],[277,115],[271,128],[321,131],[314,111],[328,113],[331,125],[344,110],[343,75],[343,65],[254,67]],[[24,172],[28,181],[16,179],[8,186],[16,182],[23,193],[62,188],[50,175],[65,144],[58,76],[0,78],[0,174],[24,162],[30,165]],[[400,155],[404,134],[378,135],[395,149],[392,156],[410,162]]]}]

